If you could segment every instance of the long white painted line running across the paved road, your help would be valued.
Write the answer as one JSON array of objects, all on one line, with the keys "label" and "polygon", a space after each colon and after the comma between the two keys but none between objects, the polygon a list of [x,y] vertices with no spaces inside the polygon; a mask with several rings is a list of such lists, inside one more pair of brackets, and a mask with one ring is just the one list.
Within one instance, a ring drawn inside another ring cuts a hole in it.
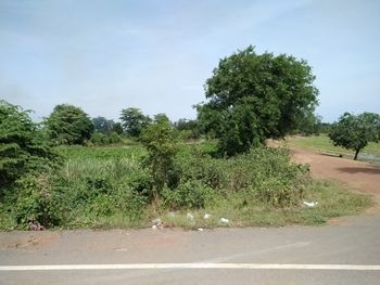
[{"label": "long white painted line running across the paved road", "polygon": [[360,264],[261,264],[261,263],[130,263],[130,264],[59,264],[0,265],[0,271],[51,270],[130,270],[130,269],[282,269],[282,270],[346,270],[380,271],[380,265]]}]

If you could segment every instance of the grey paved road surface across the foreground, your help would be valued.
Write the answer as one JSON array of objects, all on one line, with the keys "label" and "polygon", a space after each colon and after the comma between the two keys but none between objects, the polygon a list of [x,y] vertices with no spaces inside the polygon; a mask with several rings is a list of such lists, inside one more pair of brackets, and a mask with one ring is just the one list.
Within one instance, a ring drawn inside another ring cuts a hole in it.
[{"label": "grey paved road surface across the foreground", "polygon": [[[1,271],[4,265],[151,263],[187,268]],[[189,269],[188,263],[326,264],[327,269]],[[331,270],[329,264],[378,267]],[[0,284],[378,285],[379,265],[378,215],[325,226],[0,233]]]}]

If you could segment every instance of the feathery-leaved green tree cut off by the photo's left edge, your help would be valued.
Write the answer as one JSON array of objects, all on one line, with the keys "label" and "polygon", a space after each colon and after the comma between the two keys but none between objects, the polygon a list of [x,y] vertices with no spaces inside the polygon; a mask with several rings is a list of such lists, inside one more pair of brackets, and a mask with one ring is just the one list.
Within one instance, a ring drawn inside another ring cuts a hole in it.
[{"label": "feathery-leaved green tree cut off by the photo's left edge", "polygon": [[48,171],[56,161],[56,154],[28,112],[0,101],[0,194],[22,176]]}]

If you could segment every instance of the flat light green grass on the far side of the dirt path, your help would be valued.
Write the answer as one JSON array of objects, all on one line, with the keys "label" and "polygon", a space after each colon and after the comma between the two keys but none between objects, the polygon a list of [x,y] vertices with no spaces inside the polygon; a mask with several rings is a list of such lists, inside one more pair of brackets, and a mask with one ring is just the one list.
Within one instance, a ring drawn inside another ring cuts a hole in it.
[{"label": "flat light green grass on the far side of the dirt path", "polygon": [[[311,148],[319,152],[331,152],[335,154],[354,156],[353,151],[332,145],[327,134],[312,135],[312,137],[289,137],[287,138],[286,143],[291,146],[296,146],[302,148]],[[363,153],[380,156],[380,143],[369,143],[363,150]]]}]

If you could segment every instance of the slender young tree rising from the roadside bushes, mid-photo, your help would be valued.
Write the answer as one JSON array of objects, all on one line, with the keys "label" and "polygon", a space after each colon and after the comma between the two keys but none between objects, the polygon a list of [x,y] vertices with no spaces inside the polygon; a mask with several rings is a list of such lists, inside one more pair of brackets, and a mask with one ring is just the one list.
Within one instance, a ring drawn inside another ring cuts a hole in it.
[{"label": "slender young tree rising from the roadside bushes, mid-photo", "polygon": [[153,198],[156,202],[165,185],[175,184],[174,158],[178,151],[177,135],[169,120],[160,115],[153,124],[142,130],[140,141],[148,150],[145,165],[154,182]]}]

